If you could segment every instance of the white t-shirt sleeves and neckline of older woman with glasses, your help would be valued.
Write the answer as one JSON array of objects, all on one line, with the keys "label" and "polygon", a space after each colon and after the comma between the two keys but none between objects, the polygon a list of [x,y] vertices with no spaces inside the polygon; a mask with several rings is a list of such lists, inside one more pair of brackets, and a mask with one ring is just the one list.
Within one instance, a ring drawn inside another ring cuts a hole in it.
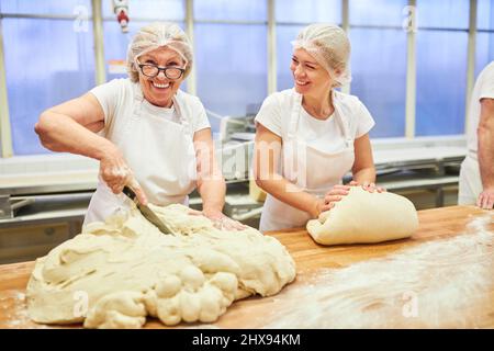
[{"label": "white t-shirt sleeves and neckline of older woman with glasses", "polygon": [[[110,125],[114,123],[121,124],[123,120],[132,117],[134,98],[137,89],[141,89],[141,84],[138,82],[133,83],[128,78],[113,79],[91,89],[90,92],[98,99],[104,112],[105,127],[103,134],[105,137],[112,139],[111,129],[109,128]],[[207,115],[199,98],[179,90],[176,99],[184,100],[184,104],[192,112],[186,117],[194,133],[210,127]],[[145,103],[148,104],[147,110],[151,111],[156,116],[180,123],[175,106],[167,109],[155,106],[146,101]]]}]

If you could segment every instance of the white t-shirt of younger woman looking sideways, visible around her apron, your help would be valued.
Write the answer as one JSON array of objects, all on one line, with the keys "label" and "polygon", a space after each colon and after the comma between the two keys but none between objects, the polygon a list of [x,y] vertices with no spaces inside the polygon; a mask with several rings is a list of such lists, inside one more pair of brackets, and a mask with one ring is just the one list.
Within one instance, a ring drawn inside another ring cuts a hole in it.
[{"label": "white t-shirt of younger woman looking sideways, visible around her apron", "polygon": [[[356,139],[369,133],[375,122],[363,103],[357,97],[338,91],[334,93],[333,103],[339,104],[339,111],[344,112],[341,117],[349,126],[350,135]],[[285,138],[294,100],[293,94],[295,94],[293,89],[289,89],[266,98],[255,121],[282,139]],[[296,135],[317,149],[328,152],[338,151],[345,147],[345,135],[335,113],[326,120],[317,120],[301,106]]]}]

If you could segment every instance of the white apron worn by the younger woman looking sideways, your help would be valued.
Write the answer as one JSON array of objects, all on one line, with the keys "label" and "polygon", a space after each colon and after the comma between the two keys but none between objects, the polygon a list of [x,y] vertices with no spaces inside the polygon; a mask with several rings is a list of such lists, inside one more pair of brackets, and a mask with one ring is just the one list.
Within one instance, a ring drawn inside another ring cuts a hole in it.
[{"label": "white apron worn by the younger woman looking sideways", "polygon": [[[292,111],[287,139],[282,140],[282,165],[281,174],[288,181],[299,185],[319,199],[335,184],[340,184],[343,177],[351,169],[355,161],[353,137],[350,126],[344,120],[341,111],[335,101],[333,93],[335,113],[333,118],[337,120],[345,137],[345,146],[338,151],[326,151],[315,148],[305,140],[297,137],[297,124],[302,110],[302,95],[294,93]],[[328,144],[332,140],[327,140]],[[292,207],[272,195],[268,194],[262,210],[259,230],[280,230],[303,227],[311,219],[311,215],[304,211]]]}]

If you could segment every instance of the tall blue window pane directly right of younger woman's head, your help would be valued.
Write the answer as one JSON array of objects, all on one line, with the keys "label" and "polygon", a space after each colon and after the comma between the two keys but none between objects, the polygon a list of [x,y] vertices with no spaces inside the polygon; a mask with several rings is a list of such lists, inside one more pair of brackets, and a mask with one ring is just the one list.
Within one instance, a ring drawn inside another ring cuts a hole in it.
[{"label": "tall blue window pane directly right of younger woman's head", "polygon": [[350,31],[351,94],[372,114],[371,137],[405,134],[406,33],[402,30]]}]

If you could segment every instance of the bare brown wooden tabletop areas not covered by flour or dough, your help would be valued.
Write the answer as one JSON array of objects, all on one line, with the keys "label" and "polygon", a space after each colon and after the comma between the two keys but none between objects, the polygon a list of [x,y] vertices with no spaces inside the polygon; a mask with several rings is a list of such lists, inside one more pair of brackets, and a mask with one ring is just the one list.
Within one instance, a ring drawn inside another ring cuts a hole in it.
[{"label": "bare brown wooden tabletop areas not covered by flour or dough", "polygon": [[[280,240],[296,262],[297,278],[295,282],[271,297],[250,297],[235,302],[212,327],[220,328],[261,328],[263,314],[272,308],[273,302],[297,286],[306,284],[321,269],[344,268],[357,262],[374,258],[383,258],[393,252],[413,247],[425,241],[454,237],[465,230],[472,219],[490,216],[487,230],[494,234],[494,212],[482,211],[473,206],[452,206],[418,212],[420,226],[409,239],[379,245],[349,245],[323,247],[315,244],[303,229],[273,231],[268,235]],[[492,248],[494,251],[494,248]],[[494,252],[492,252],[494,254]],[[34,262],[0,265],[0,328],[47,328],[32,322],[26,314],[23,298],[25,286]],[[494,267],[493,276],[494,276]],[[494,328],[494,290],[489,294],[486,303],[474,306],[481,314],[482,326]],[[201,327],[201,325],[180,325],[181,327]],[[449,326],[450,325],[446,325]],[[80,326],[77,326],[80,327]],[[146,328],[161,328],[156,320],[146,324]],[[454,327],[454,326],[453,326]]]}]

